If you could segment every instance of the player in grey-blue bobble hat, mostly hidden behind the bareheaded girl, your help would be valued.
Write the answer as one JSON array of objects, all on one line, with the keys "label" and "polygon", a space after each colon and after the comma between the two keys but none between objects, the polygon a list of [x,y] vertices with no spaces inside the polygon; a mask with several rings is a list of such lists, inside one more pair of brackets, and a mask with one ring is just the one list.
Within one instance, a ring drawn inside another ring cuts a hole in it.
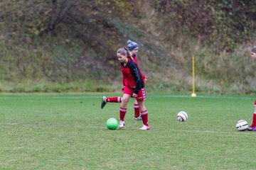
[{"label": "player in grey-blue bobble hat, mostly hidden behind the bareheaded girl", "polygon": [[[137,52],[139,51],[139,45],[136,42],[133,42],[132,40],[128,40],[127,41],[127,47],[128,47],[128,49],[130,51],[130,55],[131,55],[132,60],[134,60],[135,64],[138,65],[138,62],[137,62]],[[146,76],[144,76],[141,72],[140,72],[140,74],[142,75],[142,79],[144,79],[144,81],[146,81]],[[123,84],[124,84],[124,82],[123,82]],[[106,97],[106,96],[103,96],[101,108],[104,108],[104,106],[108,102],[121,103],[122,102],[122,98],[119,97],[119,96],[117,96],[117,97]],[[138,105],[136,99],[134,101],[134,120],[142,120],[142,116],[140,115],[140,111],[139,111],[139,105]]]}]

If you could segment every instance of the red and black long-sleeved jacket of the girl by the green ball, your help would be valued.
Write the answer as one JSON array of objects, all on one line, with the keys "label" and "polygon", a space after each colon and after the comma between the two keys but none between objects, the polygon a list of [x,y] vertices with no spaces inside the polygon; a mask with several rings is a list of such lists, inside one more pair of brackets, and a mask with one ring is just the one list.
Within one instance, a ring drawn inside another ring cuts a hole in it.
[{"label": "red and black long-sleeved jacket of the girl by the green ball", "polygon": [[139,71],[137,64],[128,58],[128,62],[125,66],[124,63],[121,62],[121,70],[124,86],[134,89],[134,94],[138,94],[139,90],[144,88],[144,81],[142,80],[142,74]]}]

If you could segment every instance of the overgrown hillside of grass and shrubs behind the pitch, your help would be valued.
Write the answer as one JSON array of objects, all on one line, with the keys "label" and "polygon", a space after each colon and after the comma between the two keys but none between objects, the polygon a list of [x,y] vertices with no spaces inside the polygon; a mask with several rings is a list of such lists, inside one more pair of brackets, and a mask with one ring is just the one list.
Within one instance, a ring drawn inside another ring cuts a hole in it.
[{"label": "overgrown hillside of grass and shrubs behind the pitch", "polygon": [[3,0],[0,90],[118,91],[115,52],[131,39],[148,91],[256,89],[255,1]]}]

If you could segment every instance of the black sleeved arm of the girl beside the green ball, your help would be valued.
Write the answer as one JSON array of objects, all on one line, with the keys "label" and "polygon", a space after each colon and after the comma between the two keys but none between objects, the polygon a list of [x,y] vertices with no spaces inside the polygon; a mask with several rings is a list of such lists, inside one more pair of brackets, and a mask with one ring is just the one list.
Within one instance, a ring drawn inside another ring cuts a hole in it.
[{"label": "black sleeved arm of the girl beside the green ball", "polygon": [[135,80],[135,89],[134,89],[134,94],[138,94],[139,90],[142,89],[144,87],[143,83],[142,83],[142,77],[139,74],[139,68],[137,67],[137,64],[135,64],[134,62],[131,62],[129,64],[129,69],[132,72],[132,75],[134,77]]}]

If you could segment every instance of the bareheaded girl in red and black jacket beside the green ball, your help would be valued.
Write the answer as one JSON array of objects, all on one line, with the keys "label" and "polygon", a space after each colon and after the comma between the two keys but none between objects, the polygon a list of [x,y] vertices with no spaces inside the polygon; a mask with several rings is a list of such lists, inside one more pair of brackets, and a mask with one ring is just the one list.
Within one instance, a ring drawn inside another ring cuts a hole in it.
[{"label": "bareheaded girl in red and black jacket beside the green ball", "polygon": [[127,103],[129,98],[136,98],[139,111],[142,115],[142,128],[139,130],[149,130],[148,124],[148,111],[144,106],[144,100],[146,99],[146,91],[144,89],[144,80],[142,74],[137,67],[137,64],[132,60],[127,48],[120,48],[117,50],[117,57],[121,62],[121,70],[123,75],[124,91],[122,96],[122,102],[119,108],[119,129],[124,128],[124,116],[127,113]]}]

